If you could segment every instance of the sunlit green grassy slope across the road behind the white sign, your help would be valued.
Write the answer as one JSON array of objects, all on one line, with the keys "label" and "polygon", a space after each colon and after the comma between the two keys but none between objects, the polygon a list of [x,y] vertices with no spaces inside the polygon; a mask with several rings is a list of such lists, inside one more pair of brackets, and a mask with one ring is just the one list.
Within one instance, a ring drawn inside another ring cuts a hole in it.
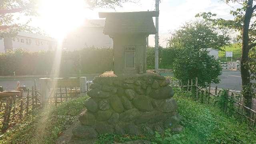
[{"label": "sunlit green grassy slope across the road behind the white sign", "polygon": [[223,52],[220,51],[219,52],[219,59],[221,62],[230,62],[231,61],[231,58],[227,58],[226,60],[226,51],[227,52],[233,52],[233,61],[236,61],[238,60],[239,58],[241,58],[241,54],[242,54],[242,46],[240,43],[237,43],[237,44],[230,44],[229,46],[224,46],[223,48]]}]

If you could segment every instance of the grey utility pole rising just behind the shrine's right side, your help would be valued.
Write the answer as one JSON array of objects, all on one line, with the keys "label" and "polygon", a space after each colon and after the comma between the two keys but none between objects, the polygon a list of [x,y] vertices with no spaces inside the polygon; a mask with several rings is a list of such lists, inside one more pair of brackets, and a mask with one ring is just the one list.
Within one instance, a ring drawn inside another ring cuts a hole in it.
[{"label": "grey utility pole rising just behind the shrine's right side", "polygon": [[[156,12],[159,11],[159,0],[156,0]],[[156,36],[155,36],[155,70],[158,73],[158,16],[156,16]]]}]

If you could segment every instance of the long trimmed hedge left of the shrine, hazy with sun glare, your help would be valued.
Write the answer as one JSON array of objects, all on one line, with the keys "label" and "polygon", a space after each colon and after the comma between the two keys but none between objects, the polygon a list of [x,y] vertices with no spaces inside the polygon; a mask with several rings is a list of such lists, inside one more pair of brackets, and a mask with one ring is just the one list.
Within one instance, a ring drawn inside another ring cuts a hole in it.
[{"label": "long trimmed hedge left of the shrine, hazy with sun glare", "polygon": [[[111,48],[84,48],[82,50],[62,51],[60,75],[81,73],[102,73],[112,70]],[[54,51],[27,52],[22,49],[0,54],[0,75],[42,75],[53,74]]]}]

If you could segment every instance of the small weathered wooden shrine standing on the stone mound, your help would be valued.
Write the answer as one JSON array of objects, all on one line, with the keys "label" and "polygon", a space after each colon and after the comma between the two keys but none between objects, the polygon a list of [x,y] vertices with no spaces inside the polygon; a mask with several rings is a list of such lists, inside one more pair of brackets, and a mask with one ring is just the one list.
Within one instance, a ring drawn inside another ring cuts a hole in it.
[{"label": "small weathered wooden shrine standing on the stone mound", "polygon": [[146,73],[146,38],[156,34],[153,18],[159,12],[100,12],[104,34],[114,41],[114,74]]}]

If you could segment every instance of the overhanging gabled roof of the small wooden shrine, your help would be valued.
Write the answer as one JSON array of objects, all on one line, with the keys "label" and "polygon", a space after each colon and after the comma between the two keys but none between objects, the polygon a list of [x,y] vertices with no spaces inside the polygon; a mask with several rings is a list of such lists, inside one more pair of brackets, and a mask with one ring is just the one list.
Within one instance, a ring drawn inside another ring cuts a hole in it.
[{"label": "overhanging gabled roof of the small wooden shrine", "polygon": [[152,17],[159,12],[100,12],[106,18],[104,34],[156,34]]}]

